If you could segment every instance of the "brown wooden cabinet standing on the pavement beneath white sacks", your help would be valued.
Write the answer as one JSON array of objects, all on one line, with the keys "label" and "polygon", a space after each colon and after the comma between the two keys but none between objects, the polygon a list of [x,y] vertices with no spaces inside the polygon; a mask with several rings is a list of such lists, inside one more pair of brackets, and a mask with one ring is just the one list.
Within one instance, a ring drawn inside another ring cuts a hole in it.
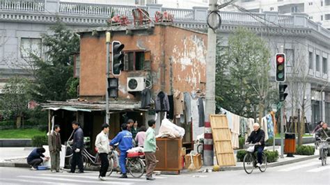
[{"label": "brown wooden cabinet standing on the pavement beneath white sacks", "polygon": [[156,151],[155,170],[179,172],[182,169],[182,139],[156,138],[156,142],[159,150]]}]

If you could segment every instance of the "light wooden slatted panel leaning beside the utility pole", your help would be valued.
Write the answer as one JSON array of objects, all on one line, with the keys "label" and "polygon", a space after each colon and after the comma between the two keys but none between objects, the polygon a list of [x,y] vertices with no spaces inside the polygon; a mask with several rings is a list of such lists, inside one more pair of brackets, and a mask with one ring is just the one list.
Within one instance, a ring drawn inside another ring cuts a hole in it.
[{"label": "light wooden slatted panel leaning beside the utility pole", "polygon": [[235,166],[231,133],[226,115],[210,115],[212,137],[219,166]]}]

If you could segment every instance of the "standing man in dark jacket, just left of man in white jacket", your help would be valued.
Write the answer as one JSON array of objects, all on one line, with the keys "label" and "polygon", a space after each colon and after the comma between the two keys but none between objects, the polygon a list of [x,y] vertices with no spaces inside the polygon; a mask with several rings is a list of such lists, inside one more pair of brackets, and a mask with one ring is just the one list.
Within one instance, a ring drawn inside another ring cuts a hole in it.
[{"label": "standing man in dark jacket, just left of man in white jacket", "polygon": [[72,163],[70,172],[76,170],[78,165],[79,173],[84,172],[84,165],[82,160],[81,152],[84,150],[84,131],[81,129],[79,122],[72,122],[72,128],[74,129],[73,134],[73,145],[72,145]]}]

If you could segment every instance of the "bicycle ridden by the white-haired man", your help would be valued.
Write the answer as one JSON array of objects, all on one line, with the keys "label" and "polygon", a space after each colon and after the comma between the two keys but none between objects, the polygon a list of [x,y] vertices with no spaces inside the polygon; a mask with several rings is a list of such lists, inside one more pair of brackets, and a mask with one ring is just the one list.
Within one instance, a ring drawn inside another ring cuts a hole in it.
[{"label": "bicycle ridden by the white-haired man", "polygon": [[255,156],[254,147],[256,144],[245,145],[248,146],[246,154],[243,159],[244,170],[247,174],[251,174],[254,168],[259,168],[260,172],[265,172],[267,169],[267,156],[262,152],[262,163],[261,166],[257,166],[257,158]]}]

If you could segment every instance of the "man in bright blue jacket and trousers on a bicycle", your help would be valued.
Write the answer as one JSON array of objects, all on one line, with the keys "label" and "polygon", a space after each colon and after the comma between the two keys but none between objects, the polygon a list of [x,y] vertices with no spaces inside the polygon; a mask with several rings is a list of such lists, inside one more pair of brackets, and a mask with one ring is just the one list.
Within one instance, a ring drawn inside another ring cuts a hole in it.
[{"label": "man in bright blue jacket and trousers on a bicycle", "polygon": [[113,146],[116,143],[119,143],[118,149],[120,150],[120,157],[119,157],[119,165],[120,170],[123,173],[119,178],[127,178],[126,174],[126,157],[127,157],[127,150],[131,149],[133,147],[132,142],[132,133],[127,131],[127,124],[122,124],[121,129],[123,131],[120,131],[113,140],[111,140],[110,145]]}]

